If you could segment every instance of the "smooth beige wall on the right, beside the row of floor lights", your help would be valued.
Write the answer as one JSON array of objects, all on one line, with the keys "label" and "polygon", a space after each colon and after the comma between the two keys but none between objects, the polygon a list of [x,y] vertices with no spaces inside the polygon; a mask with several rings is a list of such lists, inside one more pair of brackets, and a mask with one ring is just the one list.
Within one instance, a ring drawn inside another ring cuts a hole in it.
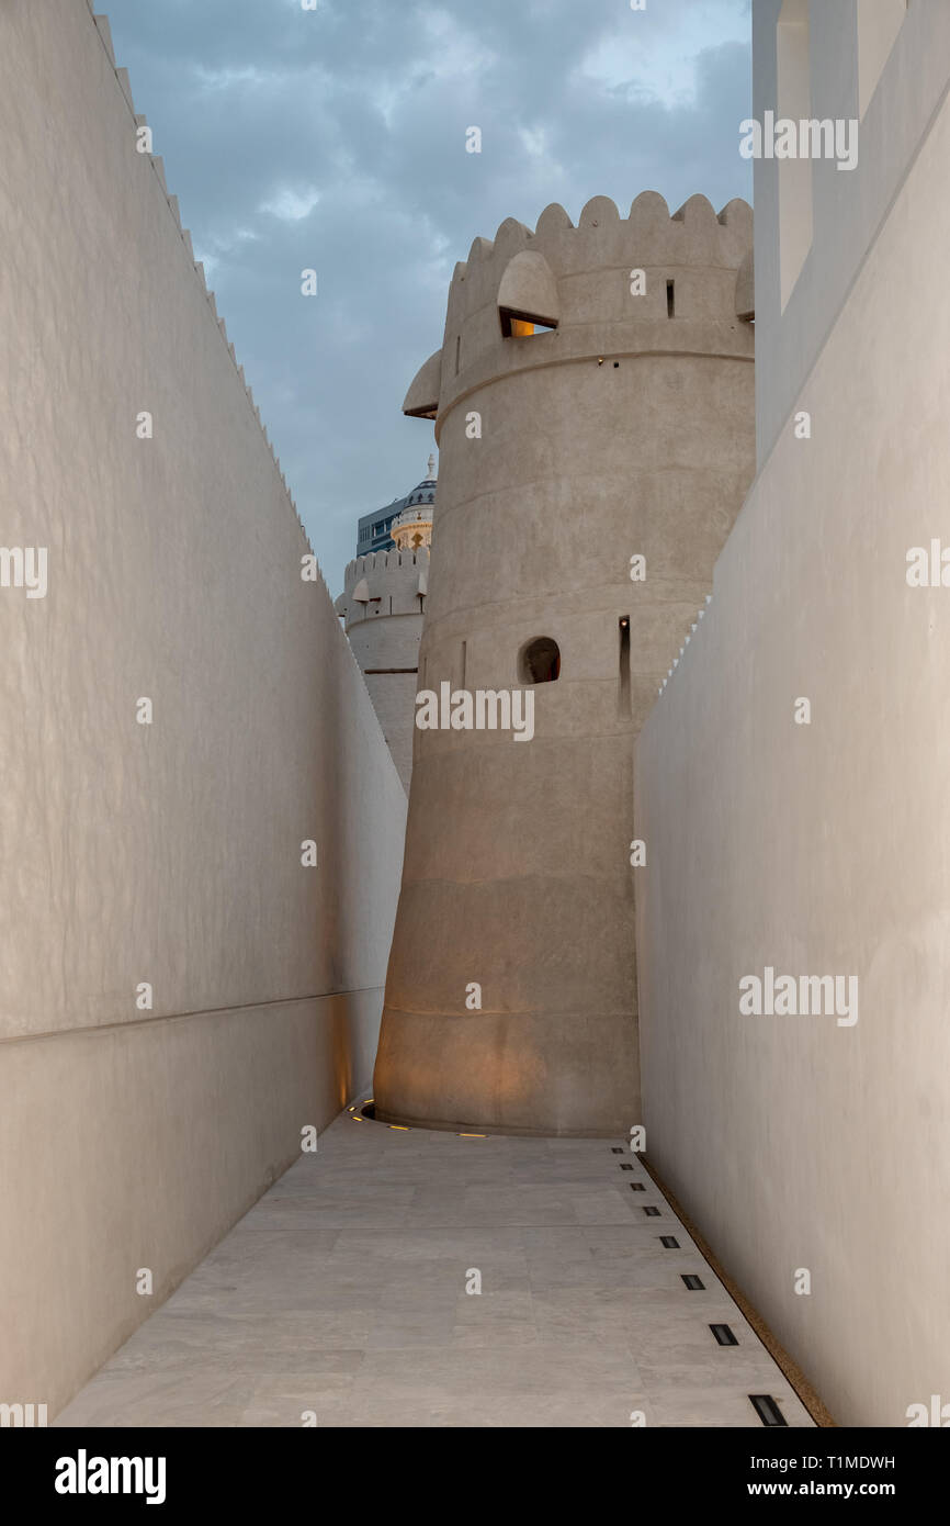
[{"label": "smooth beige wall on the right, beside the row of floor lights", "polygon": [[[648,1155],[842,1425],[950,1370],[948,163],[944,104],[636,755]],[[857,1022],[741,1015],[765,966]]]}]

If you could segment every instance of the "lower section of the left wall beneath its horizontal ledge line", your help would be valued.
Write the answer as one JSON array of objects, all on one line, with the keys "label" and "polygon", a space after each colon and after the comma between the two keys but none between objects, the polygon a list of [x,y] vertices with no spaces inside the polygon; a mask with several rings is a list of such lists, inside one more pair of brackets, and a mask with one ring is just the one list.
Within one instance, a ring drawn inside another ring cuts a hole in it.
[{"label": "lower section of the left wall beneath its horizontal ledge line", "polygon": [[52,1416],[163,1303],[369,1074],[378,1016],[343,992],[0,1047],[6,1402]]}]

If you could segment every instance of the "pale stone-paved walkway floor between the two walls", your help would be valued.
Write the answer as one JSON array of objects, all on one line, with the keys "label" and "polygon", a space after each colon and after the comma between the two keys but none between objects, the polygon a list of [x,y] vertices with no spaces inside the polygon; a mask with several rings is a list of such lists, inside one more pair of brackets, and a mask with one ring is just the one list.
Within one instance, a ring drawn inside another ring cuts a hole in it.
[{"label": "pale stone-paved walkway floor between the two walls", "polygon": [[624,1143],[343,1114],[56,1424],[811,1425]]}]

